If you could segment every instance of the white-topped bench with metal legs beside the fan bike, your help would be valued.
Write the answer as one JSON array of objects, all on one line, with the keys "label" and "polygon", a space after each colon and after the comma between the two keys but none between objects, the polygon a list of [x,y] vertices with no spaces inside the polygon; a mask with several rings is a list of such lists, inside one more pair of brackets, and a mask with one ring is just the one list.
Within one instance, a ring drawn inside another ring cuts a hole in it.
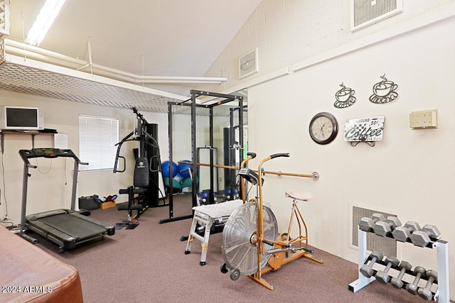
[{"label": "white-topped bench with metal legs beside the fan bike", "polygon": [[[186,242],[185,254],[191,253],[191,243],[196,238],[201,242],[202,253],[200,254],[199,265],[205,265],[208,249],[208,238],[210,237],[210,229],[215,222],[225,222],[228,220],[230,214],[240,205],[243,201],[240,199],[226,201],[218,204],[208,204],[201,206],[194,206],[193,222],[191,223],[190,236]],[[198,223],[205,228],[204,236],[200,236],[196,230]]]}]

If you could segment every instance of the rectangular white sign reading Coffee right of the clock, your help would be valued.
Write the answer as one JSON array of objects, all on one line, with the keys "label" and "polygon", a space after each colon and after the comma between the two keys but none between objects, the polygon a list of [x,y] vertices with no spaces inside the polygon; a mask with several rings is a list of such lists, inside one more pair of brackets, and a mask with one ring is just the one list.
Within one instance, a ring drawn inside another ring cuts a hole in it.
[{"label": "rectangular white sign reading Coffee right of the clock", "polygon": [[344,126],[344,141],[382,141],[383,133],[384,116],[346,119],[346,124]]}]

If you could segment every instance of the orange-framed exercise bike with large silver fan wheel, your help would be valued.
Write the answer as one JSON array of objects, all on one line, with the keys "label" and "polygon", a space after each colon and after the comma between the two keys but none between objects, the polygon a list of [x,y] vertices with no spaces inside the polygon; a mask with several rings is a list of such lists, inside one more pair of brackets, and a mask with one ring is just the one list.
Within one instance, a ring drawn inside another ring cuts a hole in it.
[{"label": "orange-framed exercise bike with large silver fan wheel", "polygon": [[[264,158],[259,162],[257,172],[262,172],[264,162],[279,157],[289,157],[289,153],[277,153]],[[311,255],[314,251],[308,245],[308,229],[297,205],[299,201],[308,201],[311,194],[286,191],[285,196],[292,199],[291,216],[287,232],[278,233],[277,219],[272,209],[264,206],[262,177],[247,167],[243,167],[239,175],[256,185],[257,196],[256,199],[235,209],[225,224],[222,240],[225,263],[221,265],[221,272],[230,272],[232,280],[237,280],[240,275],[246,275],[259,285],[273,290],[273,286],[262,278],[265,272],[279,270],[282,265],[301,257],[323,263]],[[242,192],[242,197],[245,201],[245,192]],[[294,218],[299,226],[299,235],[291,238]]]}]

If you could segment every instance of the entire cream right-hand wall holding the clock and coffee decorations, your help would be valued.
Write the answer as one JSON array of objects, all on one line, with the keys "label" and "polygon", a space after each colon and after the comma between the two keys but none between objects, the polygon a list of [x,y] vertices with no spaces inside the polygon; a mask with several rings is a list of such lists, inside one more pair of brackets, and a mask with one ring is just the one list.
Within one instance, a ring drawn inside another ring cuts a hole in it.
[{"label": "entire cream right-hand wall holding the clock and coffee decorations", "polygon": [[[301,203],[310,244],[341,258],[357,262],[350,247],[353,205],[397,214],[402,222],[434,224],[452,245],[455,2],[404,0],[403,13],[355,33],[348,10],[348,1],[262,1],[207,73],[228,76],[228,82],[201,89],[229,93],[247,87],[250,151],[258,158],[291,153],[265,169],[321,175],[318,181],[266,176],[264,197],[280,231],[290,205],[284,190],[294,189],[314,194]],[[239,80],[237,58],[256,47],[259,73]],[[285,72],[274,79],[277,70]],[[384,73],[398,84],[399,98],[373,104],[368,98]],[[355,89],[357,101],[347,109],[333,106],[341,82]],[[412,130],[409,114],[427,109],[439,110],[439,128]],[[309,136],[309,121],[320,111],[334,114],[341,128],[328,145]],[[382,115],[384,138],[375,147],[343,141],[346,119]],[[400,260],[437,269],[434,250],[401,243],[398,250]]]}]

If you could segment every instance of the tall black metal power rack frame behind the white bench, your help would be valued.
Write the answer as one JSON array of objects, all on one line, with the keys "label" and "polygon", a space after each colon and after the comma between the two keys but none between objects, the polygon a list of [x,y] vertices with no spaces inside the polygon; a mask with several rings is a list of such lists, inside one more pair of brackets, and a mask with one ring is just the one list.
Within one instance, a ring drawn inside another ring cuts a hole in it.
[{"label": "tall black metal power rack frame behind the white bench", "polygon": [[[215,92],[203,92],[203,91],[198,91],[198,90],[191,90],[191,98],[187,99],[185,101],[181,102],[168,102],[168,134],[169,134],[169,163],[173,162],[173,114],[178,113],[178,110],[174,110],[176,106],[180,106],[180,109],[184,111],[185,109],[191,109],[190,115],[191,115],[191,171],[193,176],[198,175],[198,167],[197,167],[197,155],[198,155],[198,148],[196,145],[196,116],[198,113],[198,110],[200,109],[208,109],[209,111],[209,145],[210,147],[213,147],[214,145],[214,132],[213,132],[213,117],[215,116],[215,109],[217,106],[222,106],[222,105],[228,105],[229,102],[233,102],[235,104],[235,108],[238,108],[238,116],[239,116],[239,121],[238,121],[238,126],[239,126],[239,131],[242,134],[243,133],[243,97],[241,96],[235,96],[232,94],[218,94]],[[210,102],[207,102],[207,104],[198,104],[196,100],[199,97],[215,97],[215,99],[211,100]],[[213,101],[213,102],[212,102]],[[210,103],[210,104],[209,104]],[[243,146],[243,138],[240,136],[240,148]],[[209,155],[210,160],[210,192],[208,194],[208,199],[209,199],[209,204],[213,204],[214,198],[213,198],[213,188],[214,188],[214,176],[215,176],[215,170],[214,170],[214,163],[215,163],[215,157],[213,153],[210,153]],[[242,161],[242,153],[240,153],[240,162]],[[169,175],[172,176],[173,174],[173,167],[172,165],[169,166]],[[218,182],[218,180],[216,180]],[[192,205],[197,206],[197,201],[198,201],[198,182],[196,181],[196,177],[193,178],[192,182]],[[167,223],[171,221],[178,221],[178,220],[183,220],[183,219],[191,219],[193,218],[193,214],[187,215],[187,216],[174,216],[173,215],[173,186],[172,182],[170,180],[169,182],[169,189],[168,189],[168,194],[169,194],[169,218],[168,219],[163,219],[159,223]]]}]

